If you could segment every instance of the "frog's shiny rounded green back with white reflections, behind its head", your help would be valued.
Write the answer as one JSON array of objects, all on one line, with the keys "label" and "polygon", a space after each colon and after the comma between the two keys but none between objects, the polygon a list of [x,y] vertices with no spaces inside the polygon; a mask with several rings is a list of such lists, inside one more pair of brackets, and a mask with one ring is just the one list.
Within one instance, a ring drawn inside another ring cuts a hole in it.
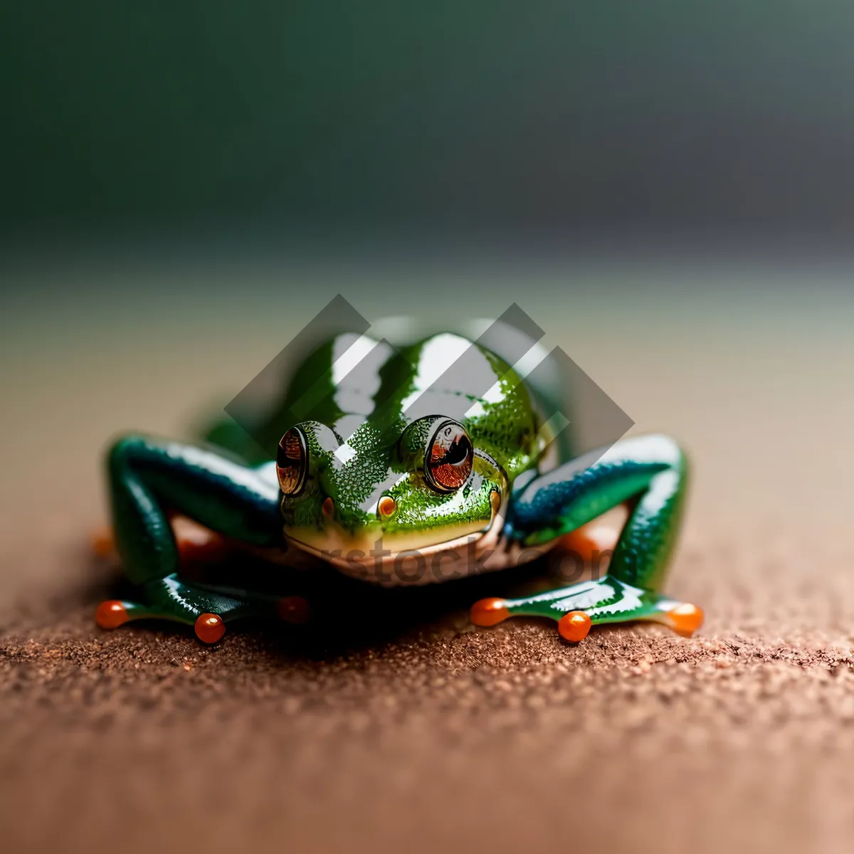
[{"label": "frog's shiny rounded green back with white reflections, behind its head", "polygon": [[[260,401],[266,406],[249,430],[253,436],[281,436],[296,422],[316,420],[346,440],[366,421],[402,430],[417,418],[443,415],[465,424],[476,447],[498,459],[511,478],[535,458],[540,424],[526,383],[506,360],[467,336],[438,332],[395,347],[342,333],[286,370],[278,390],[269,390],[270,400]],[[227,424],[207,438],[257,457],[257,448],[253,455]]]}]

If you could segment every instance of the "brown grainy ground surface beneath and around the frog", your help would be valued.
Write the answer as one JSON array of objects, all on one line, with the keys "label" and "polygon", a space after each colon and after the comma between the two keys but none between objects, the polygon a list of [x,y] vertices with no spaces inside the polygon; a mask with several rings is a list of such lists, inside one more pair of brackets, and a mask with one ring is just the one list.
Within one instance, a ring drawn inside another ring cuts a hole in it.
[{"label": "brown grainy ground surface beneath and around the frog", "polygon": [[[26,393],[7,378],[3,850],[850,850],[847,332],[833,311],[821,335],[799,315],[757,309],[734,329],[729,310],[704,314],[674,337],[629,313],[598,361],[578,325],[570,350],[639,430],[693,451],[668,582],[705,606],[692,640],[473,629],[466,606],[518,582],[497,577],[397,596],[330,582],[314,629],[249,626],[212,648],[161,626],[102,633],[91,613],[116,571],[85,548],[97,449],[123,424],[177,429],[213,348],[167,371],[143,365],[142,332],[93,333],[62,371],[28,364]],[[57,407],[77,412],[61,448],[44,429]]]}]

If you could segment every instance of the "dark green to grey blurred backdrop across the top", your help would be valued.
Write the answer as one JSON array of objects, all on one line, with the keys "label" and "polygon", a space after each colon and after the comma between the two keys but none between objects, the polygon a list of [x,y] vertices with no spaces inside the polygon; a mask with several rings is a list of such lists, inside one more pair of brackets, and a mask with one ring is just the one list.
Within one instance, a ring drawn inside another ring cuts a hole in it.
[{"label": "dark green to grey blurred backdrop across the top", "polygon": [[28,0],[0,21],[11,238],[854,223],[845,0]]}]

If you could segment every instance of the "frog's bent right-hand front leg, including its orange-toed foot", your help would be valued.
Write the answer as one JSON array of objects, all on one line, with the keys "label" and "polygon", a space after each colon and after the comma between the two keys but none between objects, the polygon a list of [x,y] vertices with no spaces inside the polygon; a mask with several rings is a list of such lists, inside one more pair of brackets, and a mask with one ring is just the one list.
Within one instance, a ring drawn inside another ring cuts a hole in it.
[{"label": "frog's bent right-hand front leg, including its orange-toed foot", "polygon": [[667,436],[617,442],[594,465],[566,463],[513,494],[508,535],[521,547],[542,546],[633,501],[607,574],[525,599],[488,599],[471,609],[477,625],[513,615],[553,617],[566,640],[582,640],[591,625],[655,620],[682,635],[699,629],[703,612],[658,593],[676,542],[687,462]]}]

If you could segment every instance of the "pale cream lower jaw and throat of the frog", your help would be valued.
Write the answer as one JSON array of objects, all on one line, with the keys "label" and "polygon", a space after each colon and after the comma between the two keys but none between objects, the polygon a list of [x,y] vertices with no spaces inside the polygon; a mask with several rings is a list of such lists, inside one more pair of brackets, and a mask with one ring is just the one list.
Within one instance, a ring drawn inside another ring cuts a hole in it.
[{"label": "pale cream lower jaw and throat of the frog", "polygon": [[[498,549],[504,529],[509,490],[494,491],[488,523],[458,525],[453,537],[429,541],[429,534],[354,537],[343,529],[327,529],[321,545],[285,532],[289,545],[367,582],[397,586],[450,581],[471,574],[472,560]],[[435,535],[435,531],[433,532]],[[369,541],[371,540],[371,541]],[[491,568],[491,567],[487,567]]]}]

